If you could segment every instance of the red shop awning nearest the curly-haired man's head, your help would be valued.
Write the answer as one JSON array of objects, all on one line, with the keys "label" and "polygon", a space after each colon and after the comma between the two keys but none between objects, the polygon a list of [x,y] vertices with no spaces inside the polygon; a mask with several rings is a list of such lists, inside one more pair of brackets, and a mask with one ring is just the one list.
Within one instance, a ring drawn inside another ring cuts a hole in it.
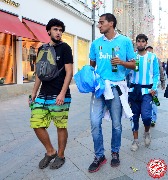
[{"label": "red shop awning nearest the curly-haired man's head", "polygon": [[50,36],[48,36],[45,26],[26,20],[24,18],[22,19],[22,21],[30,29],[30,31],[32,31],[32,33],[40,42],[50,42]]}]

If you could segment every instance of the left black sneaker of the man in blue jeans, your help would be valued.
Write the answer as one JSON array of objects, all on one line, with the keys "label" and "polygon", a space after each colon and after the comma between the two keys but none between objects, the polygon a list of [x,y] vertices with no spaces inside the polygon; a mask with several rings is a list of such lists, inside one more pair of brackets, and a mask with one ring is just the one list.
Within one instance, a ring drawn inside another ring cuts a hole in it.
[{"label": "left black sneaker of the man in blue jeans", "polygon": [[94,158],[94,161],[92,162],[92,164],[89,166],[89,169],[88,171],[89,172],[96,172],[100,169],[100,166],[105,164],[107,161],[107,159],[105,158],[105,156],[102,156],[100,157],[99,159],[98,158]]}]

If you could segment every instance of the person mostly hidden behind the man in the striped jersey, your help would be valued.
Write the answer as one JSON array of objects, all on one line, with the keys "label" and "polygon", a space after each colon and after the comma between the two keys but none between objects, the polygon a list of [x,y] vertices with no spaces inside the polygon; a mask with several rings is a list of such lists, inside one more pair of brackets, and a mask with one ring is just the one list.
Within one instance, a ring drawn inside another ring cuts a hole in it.
[{"label": "person mostly hidden behind the man in the striped jersey", "polygon": [[[153,47],[152,46],[148,46],[146,47],[146,51],[148,52],[152,52],[153,53]],[[164,70],[162,67],[162,62],[160,61],[160,59],[158,59],[159,62],[159,72],[160,72],[160,82],[161,82],[161,88],[162,90],[165,89],[165,76],[164,76]],[[159,88],[159,86],[158,86]],[[158,97],[158,91],[156,91],[155,94]],[[156,120],[157,120],[157,106],[155,103],[152,104],[152,121],[151,121],[151,126],[154,127],[156,124]]]}]

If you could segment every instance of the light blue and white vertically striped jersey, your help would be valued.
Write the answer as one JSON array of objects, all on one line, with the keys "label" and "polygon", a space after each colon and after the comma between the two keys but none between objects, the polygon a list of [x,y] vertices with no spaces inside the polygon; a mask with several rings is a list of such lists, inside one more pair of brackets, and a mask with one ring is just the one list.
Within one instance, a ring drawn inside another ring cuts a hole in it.
[{"label": "light blue and white vertically striped jersey", "polygon": [[[137,54],[136,54],[137,55]],[[135,56],[136,56],[135,55]],[[147,52],[144,56],[139,55],[139,71],[131,70],[131,83],[150,85],[153,84],[152,90],[157,90],[160,73],[159,62],[154,53]],[[132,92],[134,88],[130,88],[129,92]],[[148,88],[142,88],[142,95],[149,93]]]}]

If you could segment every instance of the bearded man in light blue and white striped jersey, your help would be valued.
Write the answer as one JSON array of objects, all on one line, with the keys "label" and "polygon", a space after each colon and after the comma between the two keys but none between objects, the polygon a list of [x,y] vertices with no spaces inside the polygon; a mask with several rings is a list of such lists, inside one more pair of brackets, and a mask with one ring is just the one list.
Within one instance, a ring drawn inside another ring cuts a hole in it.
[{"label": "bearded man in light blue and white striped jersey", "polygon": [[149,129],[152,120],[152,96],[156,94],[158,87],[159,63],[154,53],[145,50],[147,41],[148,37],[145,34],[139,34],[136,37],[137,52],[135,56],[138,59],[139,67],[131,72],[132,77],[129,90],[129,103],[134,114],[132,151],[137,151],[139,148],[138,129],[140,115],[145,127],[145,146],[149,146],[151,142]]}]

